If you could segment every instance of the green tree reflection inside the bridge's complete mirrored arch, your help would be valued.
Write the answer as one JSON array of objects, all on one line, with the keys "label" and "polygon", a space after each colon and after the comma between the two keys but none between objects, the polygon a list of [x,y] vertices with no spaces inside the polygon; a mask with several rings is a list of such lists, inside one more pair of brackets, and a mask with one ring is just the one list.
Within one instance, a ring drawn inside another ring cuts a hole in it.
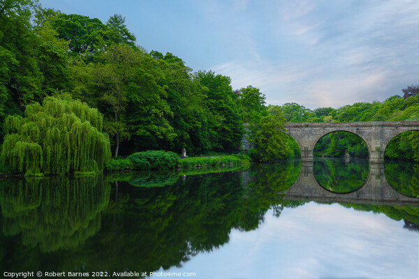
[{"label": "green tree reflection inside the bridge's complete mirrored arch", "polygon": [[316,159],[313,167],[314,176],[325,189],[335,193],[350,193],[360,188],[369,173],[368,160],[327,158]]}]

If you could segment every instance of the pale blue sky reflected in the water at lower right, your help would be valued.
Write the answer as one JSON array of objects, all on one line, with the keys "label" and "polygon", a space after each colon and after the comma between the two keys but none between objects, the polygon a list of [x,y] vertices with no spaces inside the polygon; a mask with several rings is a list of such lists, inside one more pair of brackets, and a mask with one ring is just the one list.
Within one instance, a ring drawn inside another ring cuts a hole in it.
[{"label": "pale blue sky reflected in the water at lower right", "polygon": [[[383,213],[309,202],[272,211],[258,229],[233,230],[230,241],[159,272],[188,278],[417,279],[419,236]],[[228,260],[226,260],[228,259]],[[152,278],[170,278],[154,276]]]}]

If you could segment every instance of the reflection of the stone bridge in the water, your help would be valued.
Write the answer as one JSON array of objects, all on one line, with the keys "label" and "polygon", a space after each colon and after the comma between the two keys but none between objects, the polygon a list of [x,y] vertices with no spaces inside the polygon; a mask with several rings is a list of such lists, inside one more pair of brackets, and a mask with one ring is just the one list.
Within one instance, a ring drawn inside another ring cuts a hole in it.
[{"label": "reflection of the stone bridge in the water", "polygon": [[302,162],[297,181],[286,191],[288,200],[315,202],[342,202],[390,206],[419,206],[419,198],[397,193],[384,176],[384,164],[370,163],[367,181],[351,193],[332,193],[323,188],[314,177],[314,163]]}]

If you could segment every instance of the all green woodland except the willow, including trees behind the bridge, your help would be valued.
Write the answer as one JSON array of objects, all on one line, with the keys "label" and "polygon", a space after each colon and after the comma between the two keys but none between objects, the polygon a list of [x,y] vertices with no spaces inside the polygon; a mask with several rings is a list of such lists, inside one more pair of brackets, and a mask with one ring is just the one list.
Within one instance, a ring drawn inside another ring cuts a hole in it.
[{"label": "all green woodland except the willow, including trees behind the bridge", "polygon": [[[170,52],[146,51],[137,45],[122,15],[112,15],[103,23],[97,18],[41,8],[37,0],[0,2],[2,136],[8,133],[3,127],[8,115],[23,116],[27,105],[65,93],[101,112],[103,132],[110,137],[115,157],[150,149],[179,153],[184,148],[189,155],[234,153],[240,151],[246,137],[253,148],[252,158],[275,160],[300,153],[295,141],[281,133],[284,119],[416,120],[417,91],[418,86],[411,85],[403,89],[404,98],[393,96],[383,103],[355,103],[336,110],[309,110],[296,103],[266,107],[265,96],[256,87],[233,91],[230,77],[211,70],[193,72]],[[323,139],[318,155],[366,155],[363,142],[351,135],[339,134],[337,138],[329,135]],[[400,135],[388,145],[385,156],[419,160],[418,142],[418,133]],[[324,147],[328,144],[332,146]],[[38,154],[33,161],[40,161],[38,147],[32,145],[31,152]],[[36,169],[34,162],[18,169],[41,172],[42,167]],[[129,167],[127,162],[121,168]],[[61,167],[45,172],[66,171]]]}]

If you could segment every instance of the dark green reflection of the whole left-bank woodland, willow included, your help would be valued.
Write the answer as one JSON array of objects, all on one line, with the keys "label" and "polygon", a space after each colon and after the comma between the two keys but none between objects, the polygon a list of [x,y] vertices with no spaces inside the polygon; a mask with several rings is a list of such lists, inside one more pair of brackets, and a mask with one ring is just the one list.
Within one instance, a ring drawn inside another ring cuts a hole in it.
[{"label": "dark green reflection of the whole left-bank woodland, willow included", "polygon": [[182,179],[172,172],[122,175],[141,187],[115,178],[111,188],[100,176],[64,177],[64,185],[62,178],[48,177],[48,183],[27,181],[19,188],[4,181],[0,256],[6,257],[0,269],[142,272],[178,266],[228,243],[234,229],[256,229],[269,209],[279,216],[290,203],[279,193],[296,181],[300,165],[255,167]]}]

